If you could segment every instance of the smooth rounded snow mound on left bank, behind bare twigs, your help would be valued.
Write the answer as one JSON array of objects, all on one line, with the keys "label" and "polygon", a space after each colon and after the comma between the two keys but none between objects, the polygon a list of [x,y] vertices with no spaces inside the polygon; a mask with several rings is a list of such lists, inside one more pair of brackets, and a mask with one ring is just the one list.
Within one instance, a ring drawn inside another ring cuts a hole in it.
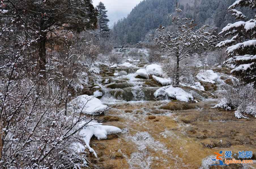
[{"label": "smooth rounded snow mound on left bank, behind bare twigs", "polygon": [[69,107],[73,107],[76,111],[84,114],[97,114],[106,110],[108,106],[93,96],[81,95],[72,100]]}]

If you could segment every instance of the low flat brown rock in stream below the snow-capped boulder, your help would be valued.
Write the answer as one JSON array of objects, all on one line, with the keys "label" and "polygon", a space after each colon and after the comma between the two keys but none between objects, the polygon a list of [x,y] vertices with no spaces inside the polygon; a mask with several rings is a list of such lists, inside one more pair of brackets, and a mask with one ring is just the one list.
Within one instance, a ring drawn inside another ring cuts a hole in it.
[{"label": "low flat brown rock in stream below the snow-capped boulder", "polygon": [[180,101],[171,101],[168,104],[161,106],[160,109],[165,110],[189,110],[199,108],[200,105],[197,103],[186,103]]}]

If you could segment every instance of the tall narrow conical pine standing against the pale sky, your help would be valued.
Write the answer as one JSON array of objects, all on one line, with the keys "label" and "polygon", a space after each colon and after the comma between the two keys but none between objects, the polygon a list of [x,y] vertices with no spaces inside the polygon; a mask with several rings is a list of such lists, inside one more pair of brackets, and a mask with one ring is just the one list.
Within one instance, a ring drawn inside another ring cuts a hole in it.
[{"label": "tall narrow conical pine standing against the pale sky", "polygon": [[99,11],[98,24],[99,24],[100,32],[109,32],[110,30],[108,28],[109,19],[107,18],[108,15],[106,14],[108,12],[106,10],[106,7],[102,2],[99,2],[99,5],[97,5],[97,9]]}]

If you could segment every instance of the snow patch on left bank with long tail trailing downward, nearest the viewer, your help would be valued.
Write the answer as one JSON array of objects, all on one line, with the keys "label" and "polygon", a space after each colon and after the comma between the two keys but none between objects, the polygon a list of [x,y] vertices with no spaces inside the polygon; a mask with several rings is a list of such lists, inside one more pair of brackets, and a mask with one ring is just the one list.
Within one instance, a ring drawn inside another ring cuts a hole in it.
[{"label": "snow patch on left bank with long tail trailing downward, nearest the viewer", "polygon": [[[79,126],[81,127],[86,123],[88,122],[83,121],[82,123],[79,124]],[[90,152],[92,152],[95,155],[95,157],[97,157],[97,154],[93,150],[93,148],[90,147],[90,140],[93,135],[97,137],[98,140],[101,140],[101,139],[106,139],[107,135],[109,134],[120,133],[122,131],[118,127],[104,126],[102,125],[102,123],[97,123],[96,121],[91,121],[87,125],[88,126],[83,128],[79,132],[79,135],[83,138],[83,141],[86,144],[87,148],[89,149]]]}]

